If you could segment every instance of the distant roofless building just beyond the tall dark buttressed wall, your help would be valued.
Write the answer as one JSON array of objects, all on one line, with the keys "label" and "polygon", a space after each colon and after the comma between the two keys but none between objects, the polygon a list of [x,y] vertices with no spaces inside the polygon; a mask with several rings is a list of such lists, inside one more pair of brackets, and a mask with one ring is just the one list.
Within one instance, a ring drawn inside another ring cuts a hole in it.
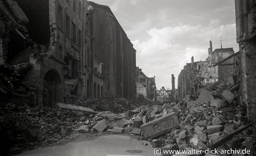
[{"label": "distant roofless building just beyond the tall dark buttressed wall", "polygon": [[137,67],[137,97],[142,94],[144,97],[156,101],[156,82],[154,77],[147,77],[142,69]]}]

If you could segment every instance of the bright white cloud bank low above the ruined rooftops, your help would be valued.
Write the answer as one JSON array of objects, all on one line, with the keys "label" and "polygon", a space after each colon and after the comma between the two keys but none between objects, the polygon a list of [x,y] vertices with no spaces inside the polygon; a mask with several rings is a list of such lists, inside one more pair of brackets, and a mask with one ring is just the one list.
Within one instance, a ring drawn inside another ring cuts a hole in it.
[{"label": "bright white cloud bank low above the ruined rooftops", "polygon": [[208,57],[209,41],[212,41],[213,50],[222,47],[233,47],[238,51],[236,44],[236,25],[221,25],[220,20],[212,19],[208,25],[179,24],[166,26],[161,29],[151,28],[146,31],[148,39],[132,41],[137,50],[137,67],[148,76],[156,75],[157,88],[171,87],[171,74],[176,77],[186,63],[205,60]]}]

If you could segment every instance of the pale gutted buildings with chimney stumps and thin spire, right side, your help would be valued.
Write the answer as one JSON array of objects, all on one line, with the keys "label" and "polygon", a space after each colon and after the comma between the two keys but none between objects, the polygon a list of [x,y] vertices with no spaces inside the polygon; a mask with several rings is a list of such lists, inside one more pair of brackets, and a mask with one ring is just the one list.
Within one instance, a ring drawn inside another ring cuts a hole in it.
[{"label": "pale gutted buildings with chimney stumps and thin spire, right side", "polygon": [[[205,61],[187,63],[178,77],[178,95],[181,101],[185,95],[197,95],[199,89],[209,83],[214,83],[234,74],[239,68],[239,55],[233,48],[220,48],[212,51],[212,42],[208,48],[208,58]],[[233,77],[237,82],[237,73]]]}]

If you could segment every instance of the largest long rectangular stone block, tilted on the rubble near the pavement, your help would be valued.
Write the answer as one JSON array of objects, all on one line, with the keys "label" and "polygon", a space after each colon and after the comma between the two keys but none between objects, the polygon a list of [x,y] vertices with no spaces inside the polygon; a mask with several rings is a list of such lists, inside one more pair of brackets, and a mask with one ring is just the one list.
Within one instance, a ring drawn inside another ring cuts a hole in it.
[{"label": "largest long rectangular stone block, tilted on the rubble near the pavement", "polygon": [[155,138],[178,127],[180,127],[180,121],[176,113],[172,112],[164,117],[160,117],[141,125],[140,129],[146,138]]}]

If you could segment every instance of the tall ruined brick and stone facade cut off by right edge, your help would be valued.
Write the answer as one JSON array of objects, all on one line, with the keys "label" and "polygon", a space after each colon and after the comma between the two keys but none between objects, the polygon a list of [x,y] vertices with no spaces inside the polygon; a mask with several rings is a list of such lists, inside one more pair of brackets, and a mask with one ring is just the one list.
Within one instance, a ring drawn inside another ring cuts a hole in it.
[{"label": "tall ruined brick and stone facade cut off by right edge", "polygon": [[256,1],[235,0],[236,39],[239,43],[241,93],[247,115],[255,119],[256,111]]}]

